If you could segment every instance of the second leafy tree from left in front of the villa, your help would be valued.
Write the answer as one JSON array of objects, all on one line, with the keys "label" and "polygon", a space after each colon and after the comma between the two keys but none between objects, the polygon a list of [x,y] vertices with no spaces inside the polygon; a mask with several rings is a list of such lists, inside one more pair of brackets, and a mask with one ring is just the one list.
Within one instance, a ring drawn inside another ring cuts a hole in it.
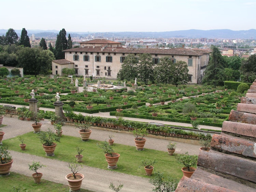
[{"label": "second leafy tree from left in front of the villa", "polygon": [[138,64],[138,78],[143,82],[148,82],[154,80],[154,62],[150,54],[140,54],[139,55],[139,64]]}]

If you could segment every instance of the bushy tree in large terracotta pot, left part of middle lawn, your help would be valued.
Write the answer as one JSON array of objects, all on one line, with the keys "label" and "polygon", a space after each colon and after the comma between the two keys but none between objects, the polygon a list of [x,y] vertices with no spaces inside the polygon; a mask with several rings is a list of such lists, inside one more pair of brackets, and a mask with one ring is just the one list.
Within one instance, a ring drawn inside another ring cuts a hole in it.
[{"label": "bushy tree in large terracotta pot, left part of middle lawn", "polygon": [[60,142],[60,137],[56,135],[52,130],[48,128],[47,131],[41,131],[38,136],[40,142],[43,144],[46,156],[54,156],[54,150],[56,148],[56,142]]}]

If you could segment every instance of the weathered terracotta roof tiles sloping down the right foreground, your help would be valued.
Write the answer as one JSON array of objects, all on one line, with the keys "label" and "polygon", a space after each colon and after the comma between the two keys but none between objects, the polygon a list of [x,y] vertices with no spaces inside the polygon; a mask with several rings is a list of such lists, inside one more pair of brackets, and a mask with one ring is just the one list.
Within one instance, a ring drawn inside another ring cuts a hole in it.
[{"label": "weathered terracotta roof tiles sloping down the right foreground", "polygon": [[182,177],[177,192],[256,191],[256,80],[237,110],[231,110],[211,150],[200,151],[197,170]]}]

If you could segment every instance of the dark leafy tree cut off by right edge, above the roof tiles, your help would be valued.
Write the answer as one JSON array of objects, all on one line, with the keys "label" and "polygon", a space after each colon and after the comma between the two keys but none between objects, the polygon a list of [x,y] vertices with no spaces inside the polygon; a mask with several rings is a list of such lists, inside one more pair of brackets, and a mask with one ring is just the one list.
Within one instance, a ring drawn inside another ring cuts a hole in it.
[{"label": "dark leafy tree cut off by right edge, above the roof tiles", "polygon": [[252,83],[256,79],[256,55],[251,55],[241,64],[241,80],[246,83]]}]

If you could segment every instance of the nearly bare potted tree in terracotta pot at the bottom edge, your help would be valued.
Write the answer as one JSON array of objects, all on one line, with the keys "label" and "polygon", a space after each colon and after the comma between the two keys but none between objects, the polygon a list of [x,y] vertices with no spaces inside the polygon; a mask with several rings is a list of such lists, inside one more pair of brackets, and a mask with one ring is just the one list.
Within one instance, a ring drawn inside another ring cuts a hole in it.
[{"label": "nearly bare potted tree in terracotta pot at the bottom edge", "polygon": [[84,175],[78,172],[81,170],[82,165],[77,163],[68,163],[67,167],[69,167],[72,172],[66,175],[66,180],[69,183],[69,191],[80,191]]}]

